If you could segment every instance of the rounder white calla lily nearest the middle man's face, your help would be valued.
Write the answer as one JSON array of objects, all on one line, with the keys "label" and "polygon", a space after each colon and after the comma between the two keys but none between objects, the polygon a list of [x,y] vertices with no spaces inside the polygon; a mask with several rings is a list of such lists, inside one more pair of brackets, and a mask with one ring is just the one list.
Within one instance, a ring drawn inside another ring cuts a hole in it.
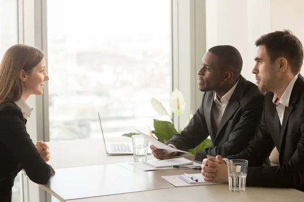
[{"label": "rounder white calla lily nearest the middle man's face", "polygon": [[170,110],[178,116],[185,111],[185,99],[182,93],[175,88],[170,97]]}]

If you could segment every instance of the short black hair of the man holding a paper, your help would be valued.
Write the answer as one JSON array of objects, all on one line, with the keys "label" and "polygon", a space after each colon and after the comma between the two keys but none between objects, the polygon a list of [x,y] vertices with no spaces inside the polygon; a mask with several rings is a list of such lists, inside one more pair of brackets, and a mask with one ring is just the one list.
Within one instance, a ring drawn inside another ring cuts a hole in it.
[{"label": "short black hair of the man holding a paper", "polygon": [[237,48],[232,45],[217,45],[210,48],[208,52],[216,55],[221,67],[232,71],[233,78],[238,80],[242,71],[243,59]]}]

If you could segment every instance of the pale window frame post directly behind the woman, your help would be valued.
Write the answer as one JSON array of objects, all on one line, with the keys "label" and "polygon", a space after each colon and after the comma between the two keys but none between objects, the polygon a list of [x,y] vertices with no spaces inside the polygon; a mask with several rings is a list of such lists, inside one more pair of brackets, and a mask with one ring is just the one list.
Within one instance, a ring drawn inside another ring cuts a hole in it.
[{"label": "pale window frame post directly behind the woman", "polygon": [[[19,0],[18,1],[18,33],[19,43],[40,48],[45,54],[47,48],[43,46],[46,41],[44,29],[46,23],[46,5],[47,0]],[[47,60],[47,59],[46,59]],[[46,85],[45,85],[46,86]],[[47,87],[46,87],[47,90]],[[46,141],[44,124],[44,97],[30,96],[29,104],[34,108],[30,121],[27,123],[27,131],[33,142],[38,140]],[[24,202],[44,202],[50,201],[47,193],[39,185],[31,182],[27,177],[22,177],[23,182],[23,201]]]}]

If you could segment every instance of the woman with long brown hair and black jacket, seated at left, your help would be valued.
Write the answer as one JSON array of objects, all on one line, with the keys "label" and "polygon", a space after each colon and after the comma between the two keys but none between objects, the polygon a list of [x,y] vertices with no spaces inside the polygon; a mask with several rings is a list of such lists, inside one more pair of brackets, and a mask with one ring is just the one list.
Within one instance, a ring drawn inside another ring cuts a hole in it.
[{"label": "woman with long brown hair and black jacket, seated at left", "polygon": [[49,80],[45,69],[44,54],[24,44],[10,47],[0,64],[0,201],[12,200],[21,169],[37,184],[47,184],[55,174],[46,163],[49,147],[42,141],[34,145],[25,127],[32,111],[26,100],[43,94]]}]

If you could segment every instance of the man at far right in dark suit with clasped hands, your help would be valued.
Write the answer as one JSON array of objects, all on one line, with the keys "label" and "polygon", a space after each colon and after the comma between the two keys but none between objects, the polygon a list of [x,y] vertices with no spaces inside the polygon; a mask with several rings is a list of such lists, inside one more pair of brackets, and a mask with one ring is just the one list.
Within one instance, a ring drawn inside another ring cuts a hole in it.
[{"label": "man at far right in dark suit with clasped hands", "polygon": [[[252,70],[259,89],[268,92],[255,139],[240,154],[227,159],[248,160],[247,186],[292,187],[304,191],[304,78],[299,74],[303,47],[290,31],[276,31],[256,40]],[[274,146],[280,166],[260,167]],[[203,160],[205,180],[227,182],[221,156]]]}]

